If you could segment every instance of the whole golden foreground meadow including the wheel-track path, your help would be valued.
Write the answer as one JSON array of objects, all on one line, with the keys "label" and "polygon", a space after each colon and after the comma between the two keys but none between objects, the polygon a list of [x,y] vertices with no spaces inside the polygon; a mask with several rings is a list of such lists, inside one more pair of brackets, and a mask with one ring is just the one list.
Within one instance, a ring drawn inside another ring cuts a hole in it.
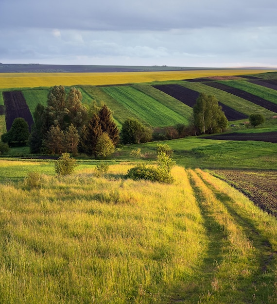
[{"label": "whole golden foreground meadow including the wheel-track path", "polygon": [[274,303],[274,217],[207,172],[131,166],[0,184],[0,303]]}]

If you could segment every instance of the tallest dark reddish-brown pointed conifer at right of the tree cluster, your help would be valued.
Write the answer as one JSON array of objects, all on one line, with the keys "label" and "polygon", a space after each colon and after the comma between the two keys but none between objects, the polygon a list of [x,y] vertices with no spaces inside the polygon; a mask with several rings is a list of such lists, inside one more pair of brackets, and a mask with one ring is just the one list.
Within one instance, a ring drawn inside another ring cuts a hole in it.
[{"label": "tallest dark reddish-brown pointed conifer at right of the tree cluster", "polygon": [[100,125],[103,132],[106,132],[114,145],[119,141],[119,128],[112,118],[111,110],[104,104],[98,113]]}]

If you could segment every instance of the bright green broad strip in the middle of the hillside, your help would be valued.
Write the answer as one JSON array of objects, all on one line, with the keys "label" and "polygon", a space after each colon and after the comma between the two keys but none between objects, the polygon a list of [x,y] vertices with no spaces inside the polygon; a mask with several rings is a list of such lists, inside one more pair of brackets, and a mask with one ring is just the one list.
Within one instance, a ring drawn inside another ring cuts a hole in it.
[{"label": "bright green broad strip in the middle of the hillside", "polygon": [[181,115],[131,86],[109,86],[103,90],[152,127],[167,127],[184,122]]}]

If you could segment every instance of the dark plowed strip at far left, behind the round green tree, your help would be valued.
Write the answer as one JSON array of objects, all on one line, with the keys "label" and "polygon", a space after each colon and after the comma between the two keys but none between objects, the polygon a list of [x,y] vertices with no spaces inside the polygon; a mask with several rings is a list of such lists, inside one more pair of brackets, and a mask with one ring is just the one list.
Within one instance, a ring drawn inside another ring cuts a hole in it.
[{"label": "dark plowed strip at far left, behind the round green tree", "polygon": [[24,118],[31,132],[31,126],[34,123],[30,109],[25,101],[25,98],[21,91],[3,92],[4,104],[5,104],[5,117],[7,131],[11,129],[15,118]]}]

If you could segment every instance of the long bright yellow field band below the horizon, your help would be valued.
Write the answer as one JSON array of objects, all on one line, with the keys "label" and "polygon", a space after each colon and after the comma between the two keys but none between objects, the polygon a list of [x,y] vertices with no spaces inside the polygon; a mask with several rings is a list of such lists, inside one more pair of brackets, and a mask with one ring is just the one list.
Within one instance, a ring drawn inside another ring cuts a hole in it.
[{"label": "long bright yellow field band below the horizon", "polygon": [[165,72],[115,73],[0,73],[0,88],[23,88],[54,85],[103,85],[181,80],[208,76],[246,75],[263,70],[190,70]]}]

